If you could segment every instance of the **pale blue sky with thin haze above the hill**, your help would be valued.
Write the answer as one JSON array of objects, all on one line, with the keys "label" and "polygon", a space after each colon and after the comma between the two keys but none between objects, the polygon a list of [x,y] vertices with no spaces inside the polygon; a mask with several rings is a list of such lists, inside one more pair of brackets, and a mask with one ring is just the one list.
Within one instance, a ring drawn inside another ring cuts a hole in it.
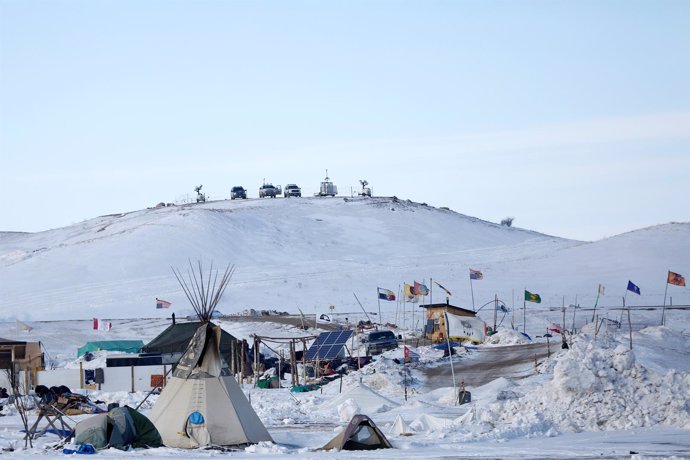
[{"label": "pale blue sky with thin haze above the hill", "polygon": [[0,0],[0,231],[326,175],[598,240],[690,220],[690,2]]}]

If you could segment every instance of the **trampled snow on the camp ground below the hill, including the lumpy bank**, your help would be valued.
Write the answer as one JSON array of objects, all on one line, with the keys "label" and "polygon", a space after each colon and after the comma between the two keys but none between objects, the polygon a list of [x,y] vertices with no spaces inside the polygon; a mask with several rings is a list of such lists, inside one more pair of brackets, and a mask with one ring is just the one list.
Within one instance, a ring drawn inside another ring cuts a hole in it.
[{"label": "trampled snow on the camp ground below the hill, including the lumpy bank", "polygon": [[[398,363],[402,358],[402,349],[398,349],[346,375],[342,388],[340,381],[310,393],[245,385],[245,393],[275,443],[251,446],[232,456],[381,458],[381,452],[315,451],[355,413],[364,413],[395,447],[385,453],[386,458],[690,458],[690,329],[684,316],[685,312],[672,313],[669,320],[673,327],[655,326],[635,332],[632,351],[627,334],[601,330],[595,338],[594,326],[589,325],[573,339],[569,350],[554,347],[550,358],[540,360],[537,367],[532,365],[528,377],[499,377],[482,386],[468,387],[472,402],[461,406],[455,404],[457,389],[452,379],[446,378],[445,386],[427,380],[425,370],[449,365],[448,358],[431,347],[413,348],[420,360],[408,366],[407,377]],[[269,322],[219,323],[238,337],[267,332],[289,336],[298,331]],[[131,326],[146,340],[166,322],[141,320],[133,321]],[[53,353],[58,365],[73,365],[73,346],[86,339],[78,332],[85,329],[83,322],[46,322],[39,327],[46,337],[46,348],[61,350]],[[11,324],[0,325],[5,336],[12,335],[12,328]],[[70,328],[71,333],[65,334],[65,329]],[[55,333],[49,334],[49,330]],[[27,333],[15,330],[14,334]],[[69,343],[67,336],[71,337]],[[454,357],[456,385],[462,379],[463,363],[487,359],[492,348],[524,346],[520,345],[526,342],[521,337],[504,329],[479,350],[459,349]],[[145,394],[94,391],[89,396],[105,403],[136,406]],[[155,399],[152,396],[144,403],[143,413]],[[37,439],[33,449],[23,450],[18,416],[11,407],[6,407],[4,413],[6,416],[0,418],[0,447],[17,449],[13,457],[63,456],[50,449],[58,440],[54,435]],[[87,416],[72,419],[76,422],[83,417]],[[393,425],[398,418],[409,426],[411,435],[395,432]],[[110,449],[99,455],[169,458],[188,457],[190,453],[169,448],[127,453]],[[228,454],[195,451],[193,455]]]}]

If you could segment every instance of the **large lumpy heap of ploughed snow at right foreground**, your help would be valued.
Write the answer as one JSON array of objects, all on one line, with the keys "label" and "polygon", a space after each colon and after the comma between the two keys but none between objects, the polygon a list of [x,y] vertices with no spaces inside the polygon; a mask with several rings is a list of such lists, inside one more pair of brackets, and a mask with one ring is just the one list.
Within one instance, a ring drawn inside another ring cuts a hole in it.
[{"label": "large lumpy heap of ploughed snow at right foreground", "polygon": [[480,413],[481,422],[493,425],[492,436],[690,428],[690,374],[645,368],[625,337],[580,336],[554,360],[550,380]]}]

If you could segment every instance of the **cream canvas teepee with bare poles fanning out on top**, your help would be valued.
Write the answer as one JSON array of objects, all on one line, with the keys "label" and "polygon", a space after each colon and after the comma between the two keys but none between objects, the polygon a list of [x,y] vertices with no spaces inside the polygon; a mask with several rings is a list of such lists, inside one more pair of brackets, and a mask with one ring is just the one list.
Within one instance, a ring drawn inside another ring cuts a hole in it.
[{"label": "cream canvas teepee with bare poles fanning out on top", "polygon": [[234,267],[218,279],[213,265],[204,278],[201,262],[190,262],[185,279],[173,273],[194,307],[201,326],[149,414],[168,447],[234,446],[273,441],[220,354],[221,328],[211,315]]}]

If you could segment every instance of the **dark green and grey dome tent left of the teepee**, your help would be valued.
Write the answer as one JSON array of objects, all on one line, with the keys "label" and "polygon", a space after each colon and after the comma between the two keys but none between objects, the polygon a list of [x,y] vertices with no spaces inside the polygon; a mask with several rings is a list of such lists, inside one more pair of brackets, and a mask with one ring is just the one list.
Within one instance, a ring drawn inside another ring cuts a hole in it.
[{"label": "dark green and grey dome tent left of the teepee", "polygon": [[74,428],[77,444],[91,444],[96,449],[115,447],[160,447],[156,427],[144,415],[129,406],[116,407],[107,414],[82,420]]}]

